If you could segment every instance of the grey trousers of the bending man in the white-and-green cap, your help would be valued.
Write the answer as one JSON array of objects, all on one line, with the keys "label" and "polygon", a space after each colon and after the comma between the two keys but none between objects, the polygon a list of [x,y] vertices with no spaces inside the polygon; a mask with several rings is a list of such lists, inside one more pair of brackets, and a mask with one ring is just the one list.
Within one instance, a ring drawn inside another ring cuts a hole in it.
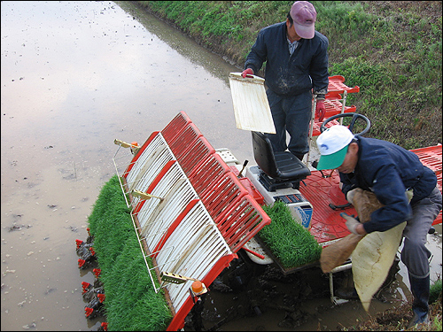
[{"label": "grey trousers of the bending man in the white-and-green cap", "polygon": [[408,273],[421,279],[429,275],[431,251],[426,248],[426,237],[432,221],[441,210],[441,193],[436,187],[429,197],[412,205],[412,219],[403,230],[404,245],[401,261],[408,267]]}]

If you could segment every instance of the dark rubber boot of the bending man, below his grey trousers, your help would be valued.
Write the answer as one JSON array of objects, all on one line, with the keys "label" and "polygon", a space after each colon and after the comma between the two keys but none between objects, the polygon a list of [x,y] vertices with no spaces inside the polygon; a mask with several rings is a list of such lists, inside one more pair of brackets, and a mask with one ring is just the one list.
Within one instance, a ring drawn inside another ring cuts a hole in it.
[{"label": "dark rubber boot of the bending man, below his grey trousers", "polygon": [[408,328],[416,324],[429,323],[429,275],[425,278],[416,278],[409,274],[409,282],[411,284],[411,292],[414,300],[412,302],[412,311],[414,317],[409,322]]}]

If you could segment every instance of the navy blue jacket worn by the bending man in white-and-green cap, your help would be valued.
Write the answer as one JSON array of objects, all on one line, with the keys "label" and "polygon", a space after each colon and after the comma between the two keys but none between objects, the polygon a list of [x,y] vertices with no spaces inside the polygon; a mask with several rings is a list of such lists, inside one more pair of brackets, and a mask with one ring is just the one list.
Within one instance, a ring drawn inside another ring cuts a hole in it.
[{"label": "navy blue jacket worn by the bending man in white-and-green cap", "polygon": [[[358,136],[358,162],[354,173],[340,173],[342,191],[354,188],[370,190],[384,207],[372,212],[363,224],[367,233],[383,232],[412,215],[410,205],[428,197],[437,185],[437,176],[424,166],[414,152],[375,138]],[[406,189],[414,189],[410,205]]]}]

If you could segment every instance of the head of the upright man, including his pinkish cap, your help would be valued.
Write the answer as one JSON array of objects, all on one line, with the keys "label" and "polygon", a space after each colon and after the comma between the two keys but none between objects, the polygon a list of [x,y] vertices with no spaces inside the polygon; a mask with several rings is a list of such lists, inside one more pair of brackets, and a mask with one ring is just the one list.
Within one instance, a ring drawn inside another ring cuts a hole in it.
[{"label": "head of the upright man, including his pinkish cap", "polygon": [[314,38],[317,12],[315,12],[315,8],[311,3],[296,1],[292,4],[289,16],[297,35],[304,39]]}]

